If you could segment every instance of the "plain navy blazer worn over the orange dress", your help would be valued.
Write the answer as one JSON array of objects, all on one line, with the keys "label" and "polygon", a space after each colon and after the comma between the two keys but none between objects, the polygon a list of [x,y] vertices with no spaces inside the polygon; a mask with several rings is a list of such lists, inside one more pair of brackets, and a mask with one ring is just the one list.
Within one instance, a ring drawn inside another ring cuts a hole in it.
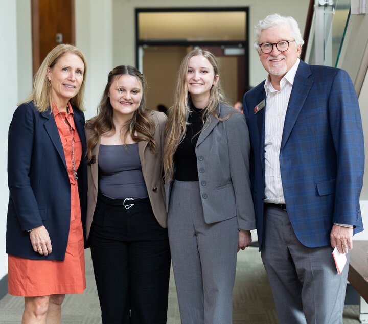
[{"label": "plain navy blazer worn over the orange dress", "polygon": [[[77,172],[84,222],[87,201],[85,120],[83,112],[75,107],[73,112],[83,147]],[[35,260],[63,261],[70,226],[71,185],[59,132],[50,109],[40,113],[29,102],[15,110],[9,127],[8,186],[6,252]],[[27,232],[41,225],[48,230],[53,247],[48,256],[34,252]]]}]

